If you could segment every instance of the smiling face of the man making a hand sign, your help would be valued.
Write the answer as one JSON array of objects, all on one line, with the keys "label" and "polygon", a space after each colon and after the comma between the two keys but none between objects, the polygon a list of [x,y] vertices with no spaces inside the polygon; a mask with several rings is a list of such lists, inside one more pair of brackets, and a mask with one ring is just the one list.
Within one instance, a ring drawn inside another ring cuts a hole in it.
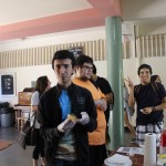
[{"label": "smiling face of the man making a hand sign", "polygon": [[151,72],[149,72],[149,69],[142,69],[139,71],[139,77],[141,77],[141,82],[142,84],[147,84],[151,82]]}]

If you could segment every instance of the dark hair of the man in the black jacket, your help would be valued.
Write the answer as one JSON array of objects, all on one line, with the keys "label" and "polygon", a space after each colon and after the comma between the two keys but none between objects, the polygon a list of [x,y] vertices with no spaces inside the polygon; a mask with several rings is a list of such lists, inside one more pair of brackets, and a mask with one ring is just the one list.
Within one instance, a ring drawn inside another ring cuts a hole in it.
[{"label": "dark hair of the man in the black jacket", "polygon": [[70,59],[72,61],[72,66],[75,65],[75,58],[74,58],[73,53],[70,52],[69,50],[60,50],[60,51],[56,51],[53,55],[52,69],[54,70],[54,61],[55,60],[64,60],[64,59]]}]

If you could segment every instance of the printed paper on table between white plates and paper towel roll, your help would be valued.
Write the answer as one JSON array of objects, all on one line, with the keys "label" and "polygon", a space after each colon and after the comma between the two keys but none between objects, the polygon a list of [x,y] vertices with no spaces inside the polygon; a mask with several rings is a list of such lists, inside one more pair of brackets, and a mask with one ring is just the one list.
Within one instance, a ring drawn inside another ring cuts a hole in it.
[{"label": "printed paper on table between white plates and paper towel roll", "polygon": [[138,154],[144,155],[144,149],[141,147],[120,147],[117,149],[120,153],[127,153],[127,154]]}]

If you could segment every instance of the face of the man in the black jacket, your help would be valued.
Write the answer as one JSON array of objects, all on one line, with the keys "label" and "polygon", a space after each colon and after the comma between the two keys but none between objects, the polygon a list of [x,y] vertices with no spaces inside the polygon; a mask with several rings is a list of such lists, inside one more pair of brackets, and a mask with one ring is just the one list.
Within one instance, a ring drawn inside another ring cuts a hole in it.
[{"label": "face of the man in the black jacket", "polygon": [[58,77],[58,82],[63,87],[68,87],[71,84],[71,76],[74,72],[72,68],[72,61],[70,59],[55,60],[54,72]]}]

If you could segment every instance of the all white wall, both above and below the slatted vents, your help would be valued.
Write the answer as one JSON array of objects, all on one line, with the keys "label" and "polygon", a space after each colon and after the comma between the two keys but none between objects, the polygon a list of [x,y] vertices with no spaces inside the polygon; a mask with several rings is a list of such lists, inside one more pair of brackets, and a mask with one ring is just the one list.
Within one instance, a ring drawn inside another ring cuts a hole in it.
[{"label": "all white wall, both above and below the slatted vents", "polygon": [[[8,50],[19,50],[33,46],[42,46],[50,44],[63,44],[76,41],[91,41],[105,39],[104,28],[86,29],[79,31],[70,31],[63,33],[56,33],[43,37],[29,38],[25,40],[15,40],[0,42],[0,51]],[[139,79],[137,76],[137,68],[142,63],[148,63],[153,68],[153,73],[158,74],[162,77],[163,84],[166,87],[166,76],[165,76],[165,62],[166,58],[146,58],[146,59],[126,59],[123,60],[124,66],[124,77],[129,76],[132,81],[137,84]],[[107,63],[106,61],[94,62],[97,68],[97,74],[107,77]],[[52,82],[52,86],[56,84],[56,79],[51,65],[39,65],[39,66],[25,66],[25,68],[11,68],[11,69],[0,69],[0,74],[15,73],[17,76],[17,94],[22,92],[24,87],[31,86],[31,81],[35,81],[41,75],[48,75]],[[0,96],[0,102],[9,102],[11,105],[18,104],[18,95],[14,97],[2,97]],[[133,124],[135,124],[135,117],[133,118]]]}]

